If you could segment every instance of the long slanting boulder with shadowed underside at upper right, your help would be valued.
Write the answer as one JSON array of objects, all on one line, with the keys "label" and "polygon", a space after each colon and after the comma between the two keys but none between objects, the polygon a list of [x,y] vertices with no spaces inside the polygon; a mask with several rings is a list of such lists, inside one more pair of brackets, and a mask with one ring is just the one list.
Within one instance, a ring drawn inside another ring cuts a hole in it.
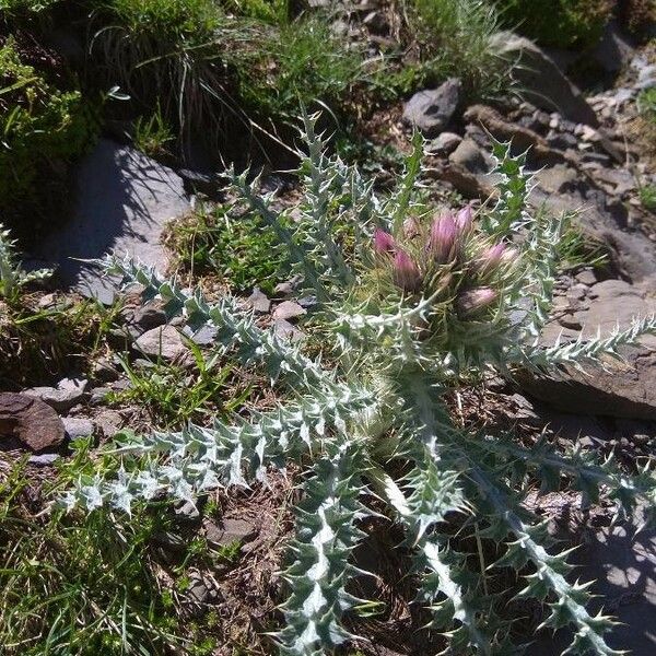
[{"label": "long slanting boulder with shadowed underside at upper right", "polygon": [[581,91],[531,40],[512,32],[500,32],[493,37],[493,46],[500,56],[517,62],[514,75],[526,99],[575,122],[599,125]]}]

